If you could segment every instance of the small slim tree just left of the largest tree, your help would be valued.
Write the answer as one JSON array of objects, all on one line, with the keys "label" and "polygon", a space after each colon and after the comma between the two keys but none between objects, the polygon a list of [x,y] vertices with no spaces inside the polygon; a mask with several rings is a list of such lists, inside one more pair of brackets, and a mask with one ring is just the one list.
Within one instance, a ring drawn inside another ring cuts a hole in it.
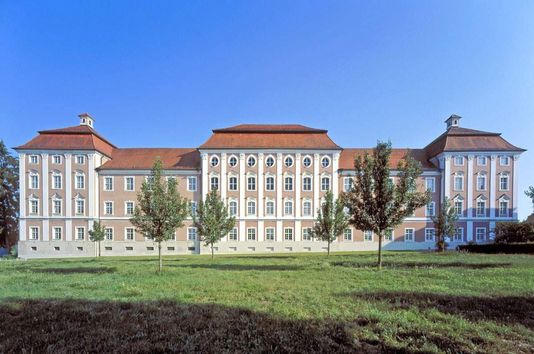
[{"label": "small slim tree just left of the largest tree", "polygon": [[334,201],[334,194],[331,191],[328,191],[324,198],[324,203],[317,210],[317,219],[311,236],[327,242],[327,256],[330,256],[330,245],[349,226],[349,218],[345,214],[345,204],[341,198]]}]

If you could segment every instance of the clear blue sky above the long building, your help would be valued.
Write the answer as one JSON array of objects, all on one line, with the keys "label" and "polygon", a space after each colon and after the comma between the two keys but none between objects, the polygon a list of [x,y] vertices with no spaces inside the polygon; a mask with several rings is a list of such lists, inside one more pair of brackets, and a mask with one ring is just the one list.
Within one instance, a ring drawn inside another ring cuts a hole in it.
[{"label": "clear blue sky above the long building", "polygon": [[0,0],[0,138],[77,124],[121,147],[302,123],[341,146],[422,147],[462,125],[529,149],[534,2]]}]

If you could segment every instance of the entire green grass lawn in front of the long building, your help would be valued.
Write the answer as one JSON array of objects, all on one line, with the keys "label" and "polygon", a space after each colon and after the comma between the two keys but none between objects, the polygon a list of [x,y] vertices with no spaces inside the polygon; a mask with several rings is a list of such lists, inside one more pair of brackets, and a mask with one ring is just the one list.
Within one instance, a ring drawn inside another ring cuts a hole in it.
[{"label": "entire green grass lawn in front of the long building", "polygon": [[534,256],[0,261],[0,352],[534,352]]}]

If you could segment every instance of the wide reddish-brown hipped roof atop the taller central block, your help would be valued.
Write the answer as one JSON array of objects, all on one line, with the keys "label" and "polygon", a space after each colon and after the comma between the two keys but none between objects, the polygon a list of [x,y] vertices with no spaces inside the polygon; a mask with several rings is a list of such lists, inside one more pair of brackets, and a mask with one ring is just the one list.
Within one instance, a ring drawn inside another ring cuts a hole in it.
[{"label": "wide reddish-brown hipped roof atop the taller central block", "polygon": [[214,129],[200,149],[319,149],[340,150],[327,130],[298,124],[242,124]]}]

